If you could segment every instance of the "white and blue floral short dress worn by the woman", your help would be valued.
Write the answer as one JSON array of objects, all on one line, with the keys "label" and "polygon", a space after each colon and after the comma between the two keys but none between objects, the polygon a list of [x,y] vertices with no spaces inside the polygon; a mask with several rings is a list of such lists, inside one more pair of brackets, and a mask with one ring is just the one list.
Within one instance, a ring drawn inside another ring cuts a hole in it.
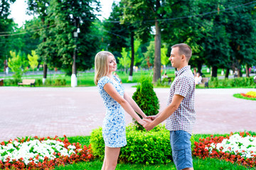
[{"label": "white and blue floral short dress worn by the woman", "polygon": [[107,147],[124,147],[127,145],[125,134],[124,109],[103,89],[105,84],[110,83],[117,92],[124,96],[124,86],[119,79],[113,76],[115,82],[110,77],[102,77],[97,84],[100,96],[106,106],[106,115],[103,120],[102,135]]}]

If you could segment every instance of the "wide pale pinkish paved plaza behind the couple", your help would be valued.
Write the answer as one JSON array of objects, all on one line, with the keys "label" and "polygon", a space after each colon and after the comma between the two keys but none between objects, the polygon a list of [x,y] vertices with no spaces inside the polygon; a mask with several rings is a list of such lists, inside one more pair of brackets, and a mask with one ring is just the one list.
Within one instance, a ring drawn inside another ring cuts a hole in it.
[{"label": "wide pale pinkish paved plaza behind the couple", "polygon": [[[132,84],[134,85],[134,84]],[[135,88],[124,84],[132,96]],[[169,89],[154,89],[160,111]],[[256,101],[233,94],[256,89],[196,89],[197,120],[194,133],[256,132]],[[0,142],[16,137],[90,135],[102,125],[105,108],[97,87],[0,87]],[[127,124],[132,118],[126,115]]]}]

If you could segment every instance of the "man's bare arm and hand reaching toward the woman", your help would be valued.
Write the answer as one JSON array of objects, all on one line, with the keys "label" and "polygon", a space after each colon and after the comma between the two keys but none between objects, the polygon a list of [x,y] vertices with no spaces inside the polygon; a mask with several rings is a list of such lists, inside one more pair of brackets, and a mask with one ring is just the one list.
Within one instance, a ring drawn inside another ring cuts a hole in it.
[{"label": "man's bare arm and hand reaching toward the woman", "polygon": [[146,123],[143,125],[143,127],[146,130],[151,130],[153,129],[156,125],[159,123],[162,123],[166,118],[169,118],[169,116],[174,113],[177,109],[178,106],[180,106],[181,101],[183,100],[183,96],[175,94],[174,97],[172,98],[171,104],[167,106],[164,111],[160,113],[159,116],[153,121],[150,120],[144,120]]}]

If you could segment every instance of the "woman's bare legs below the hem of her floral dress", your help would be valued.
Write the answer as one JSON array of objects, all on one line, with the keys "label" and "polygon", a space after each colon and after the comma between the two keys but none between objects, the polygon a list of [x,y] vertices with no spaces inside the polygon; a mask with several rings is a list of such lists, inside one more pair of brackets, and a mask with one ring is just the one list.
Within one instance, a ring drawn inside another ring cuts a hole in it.
[{"label": "woman's bare legs below the hem of her floral dress", "polygon": [[102,165],[102,170],[114,170],[117,166],[117,159],[119,157],[120,147],[106,147],[105,157]]}]

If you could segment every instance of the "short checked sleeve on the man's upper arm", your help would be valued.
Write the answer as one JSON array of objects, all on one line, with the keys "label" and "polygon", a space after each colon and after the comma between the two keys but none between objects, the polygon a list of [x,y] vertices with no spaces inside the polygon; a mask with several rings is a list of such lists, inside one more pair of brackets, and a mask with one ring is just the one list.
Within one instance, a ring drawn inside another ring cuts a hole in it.
[{"label": "short checked sleeve on the man's upper arm", "polygon": [[178,95],[181,95],[183,97],[186,97],[186,95],[188,94],[188,91],[191,87],[190,84],[191,83],[190,83],[188,77],[181,77],[177,81],[177,84],[175,86],[174,94],[178,94]]}]

